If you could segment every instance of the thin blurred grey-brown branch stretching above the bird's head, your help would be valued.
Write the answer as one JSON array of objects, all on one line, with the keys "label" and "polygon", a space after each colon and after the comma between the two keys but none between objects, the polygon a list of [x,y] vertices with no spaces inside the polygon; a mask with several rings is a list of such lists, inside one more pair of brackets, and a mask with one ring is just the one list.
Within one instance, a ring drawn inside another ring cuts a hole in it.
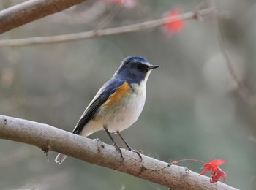
[{"label": "thin blurred grey-brown branch stretching above the bird's head", "polygon": [[164,24],[175,22],[177,20],[189,20],[189,19],[195,19],[198,17],[200,18],[206,15],[210,15],[215,11],[216,9],[214,7],[211,7],[211,8],[200,9],[192,12],[187,12],[187,13],[173,16],[173,17],[160,18],[157,20],[150,20],[143,23],[132,24],[129,26],[85,31],[85,32],[80,32],[76,34],[65,34],[65,35],[58,35],[58,36],[51,36],[51,37],[6,39],[6,40],[0,41],[0,47],[12,47],[12,46],[22,46],[22,45],[42,45],[42,44],[52,44],[52,43],[59,43],[59,42],[70,42],[70,41],[75,41],[80,39],[89,39],[93,37],[102,37],[102,36],[108,36],[113,34],[128,33],[132,31],[140,31],[146,28],[154,28],[157,26],[162,26]]}]

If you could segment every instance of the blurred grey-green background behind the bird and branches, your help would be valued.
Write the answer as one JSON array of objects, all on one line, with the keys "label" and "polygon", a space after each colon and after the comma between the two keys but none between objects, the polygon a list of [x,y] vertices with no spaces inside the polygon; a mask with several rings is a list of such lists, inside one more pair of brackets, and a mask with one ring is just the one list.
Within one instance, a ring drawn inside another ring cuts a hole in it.
[{"label": "blurred grey-green background behind the bird and branches", "polygon": [[[20,2],[1,1],[0,7]],[[221,166],[225,182],[256,189],[256,2],[211,2],[218,7],[225,52],[244,86],[231,77],[217,28],[205,17],[187,20],[177,31],[157,27],[53,45],[1,47],[0,114],[70,132],[121,61],[143,56],[161,67],[148,79],[143,113],[122,133],[131,147],[167,162],[228,160]],[[162,18],[172,9],[190,12],[197,4],[200,1],[86,1],[1,34],[0,39],[125,26]],[[113,18],[105,22],[109,15]],[[111,143],[105,132],[90,138]],[[48,163],[42,150],[31,145],[1,140],[0,150],[0,189],[167,189],[71,157],[60,166],[53,152]],[[197,162],[180,165],[203,171]]]}]

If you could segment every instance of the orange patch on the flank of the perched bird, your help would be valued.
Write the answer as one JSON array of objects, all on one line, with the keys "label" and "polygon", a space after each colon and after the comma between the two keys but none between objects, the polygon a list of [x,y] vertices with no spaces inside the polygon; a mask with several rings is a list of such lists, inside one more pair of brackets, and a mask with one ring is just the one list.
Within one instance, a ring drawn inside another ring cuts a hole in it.
[{"label": "orange patch on the flank of the perched bird", "polygon": [[104,103],[105,105],[112,105],[118,102],[119,99],[124,97],[128,91],[131,90],[131,87],[127,82],[124,82],[121,86],[117,88],[117,90],[108,98],[108,100]]}]

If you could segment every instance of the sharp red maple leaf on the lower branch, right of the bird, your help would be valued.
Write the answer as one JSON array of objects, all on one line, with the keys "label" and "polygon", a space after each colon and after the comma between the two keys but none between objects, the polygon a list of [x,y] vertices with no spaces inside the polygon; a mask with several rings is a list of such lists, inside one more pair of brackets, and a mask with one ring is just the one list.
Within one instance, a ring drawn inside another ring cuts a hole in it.
[{"label": "sharp red maple leaf on the lower branch, right of the bird", "polygon": [[225,161],[221,159],[212,160],[210,159],[209,163],[206,163],[203,165],[206,169],[200,173],[200,175],[205,174],[208,171],[211,171],[211,183],[215,183],[219,181],[219,178],[222,178],[223,181],[225,181],[226,173],[222,171],[222,169],[219,168],[221,164],[227,163],[230,161]]}]

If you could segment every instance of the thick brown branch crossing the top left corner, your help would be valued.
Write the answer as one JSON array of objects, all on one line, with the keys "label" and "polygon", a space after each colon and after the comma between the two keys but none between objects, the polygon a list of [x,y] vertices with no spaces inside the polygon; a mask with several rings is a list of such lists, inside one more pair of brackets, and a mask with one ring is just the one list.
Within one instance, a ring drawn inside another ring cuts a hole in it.
[{"label": "thick brown branch crossing the top left corner", "polygon": [[0,12],[0,34],[86,0],[29,0]]}]

